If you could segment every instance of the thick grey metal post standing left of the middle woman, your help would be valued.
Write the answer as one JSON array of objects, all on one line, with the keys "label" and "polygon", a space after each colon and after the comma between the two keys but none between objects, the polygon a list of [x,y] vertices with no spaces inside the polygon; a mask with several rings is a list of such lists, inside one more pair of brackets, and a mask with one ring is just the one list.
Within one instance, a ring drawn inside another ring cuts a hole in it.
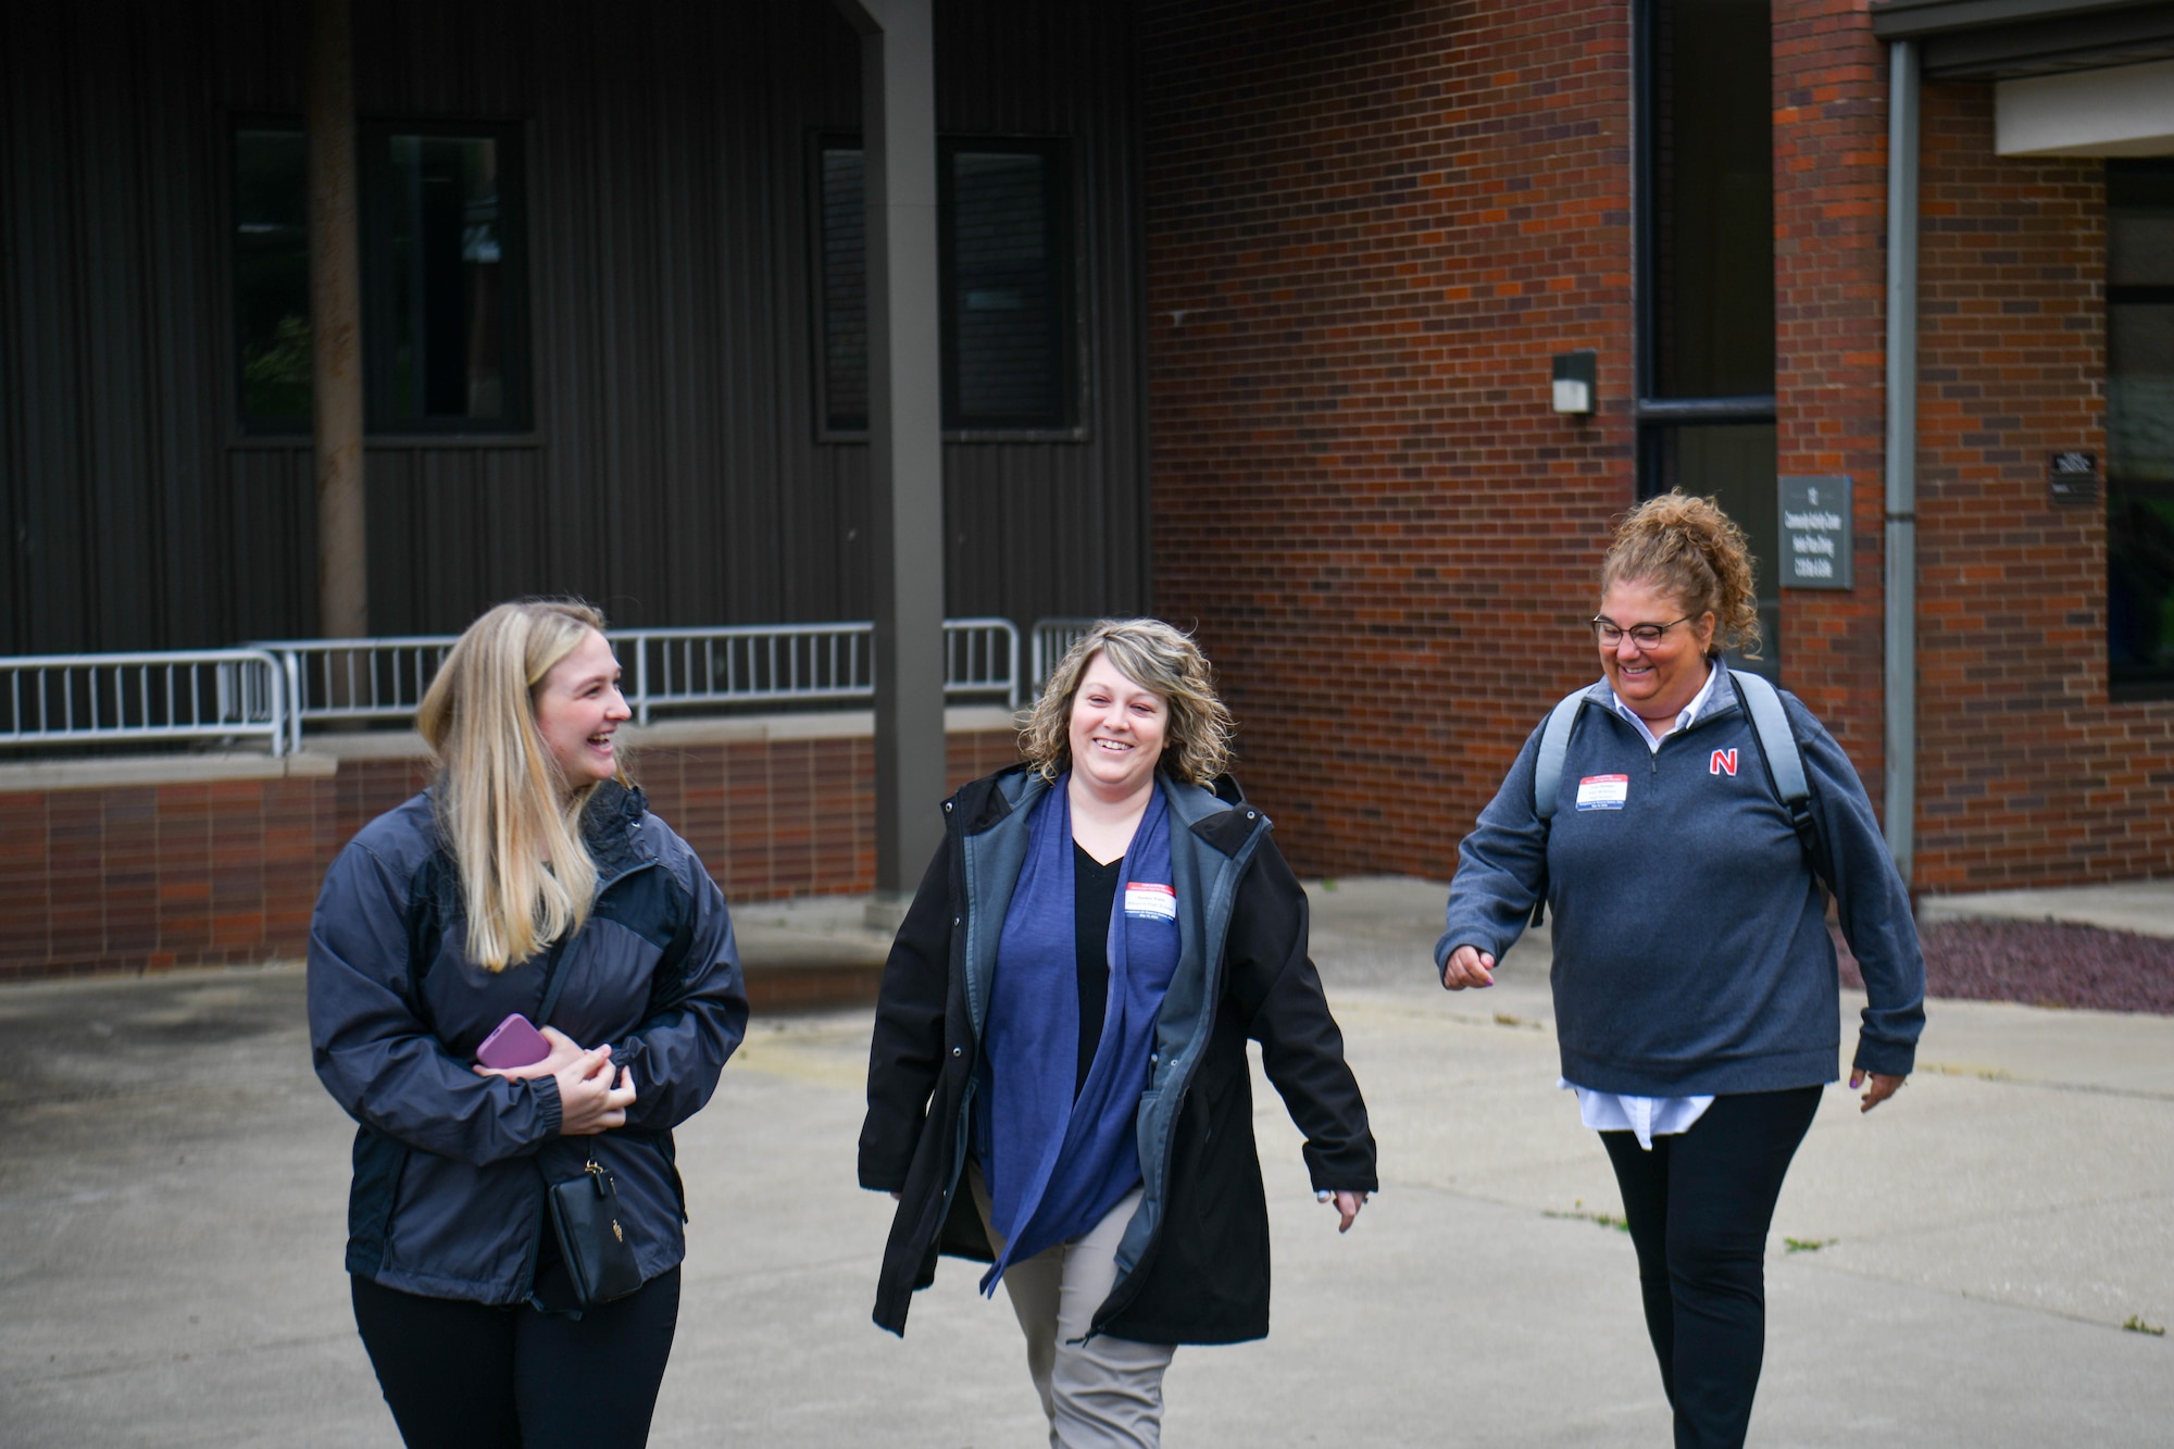
[{"label": "thick grey metal post standing left of the middle woman", "polygon": [[876,577],[876,894],[944,835],[944,392],[930,0],[837,0],[861,33],[867,485]]}]

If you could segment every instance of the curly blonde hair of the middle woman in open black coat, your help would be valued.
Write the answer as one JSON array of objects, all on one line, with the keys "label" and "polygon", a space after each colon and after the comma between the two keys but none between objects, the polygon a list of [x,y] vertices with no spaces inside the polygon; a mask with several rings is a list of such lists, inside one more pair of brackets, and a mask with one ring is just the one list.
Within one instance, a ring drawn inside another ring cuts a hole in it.
[{"label": "curly blonde hair of the middle woman in open black coat", "polygon": [[1215,696],[1215,670],[1191,635],[1159,618],[1104,618],[1057,661],[1020,731],[1020,753],[1041,779],[1054,783],[1072,768],[1072,696],[1096,655],[1109,655],[1120,674],[1170,709],[1161,768],[1191,785],[1230,768],[1230,711]]}]

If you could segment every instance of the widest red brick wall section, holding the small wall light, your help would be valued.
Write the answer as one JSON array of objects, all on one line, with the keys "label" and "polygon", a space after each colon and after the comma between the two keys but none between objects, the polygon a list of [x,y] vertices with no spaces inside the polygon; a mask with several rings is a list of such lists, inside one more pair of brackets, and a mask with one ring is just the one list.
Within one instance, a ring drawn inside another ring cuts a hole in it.
[{"label": "widest red brick wall section, holding the small wall light", "polygon": [[1446,877],[1633,498],[1628,11],[1187,0],[1141,57],[1157,611],[1302,868]]}]

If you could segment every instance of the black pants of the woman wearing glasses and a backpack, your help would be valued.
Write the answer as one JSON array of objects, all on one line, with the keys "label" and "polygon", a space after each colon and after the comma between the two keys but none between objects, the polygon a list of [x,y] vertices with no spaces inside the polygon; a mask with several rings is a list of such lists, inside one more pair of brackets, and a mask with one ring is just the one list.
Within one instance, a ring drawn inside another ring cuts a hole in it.
[{"label": "black pants of the woman wearing glasses and a backpack", "polygon": [[1602,1131],[1624,1194],[1646,1334],[1678,1449],[1744,1442],[1765,1358],[1765,1236],[1820,1088],[1715,1097],[1689,1131],[1644,1151]]}]

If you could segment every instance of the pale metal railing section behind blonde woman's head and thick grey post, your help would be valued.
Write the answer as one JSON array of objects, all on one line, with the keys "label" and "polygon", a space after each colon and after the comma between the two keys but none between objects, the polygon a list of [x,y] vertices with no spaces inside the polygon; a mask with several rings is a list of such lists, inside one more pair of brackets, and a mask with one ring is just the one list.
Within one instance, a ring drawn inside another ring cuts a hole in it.
[{"label": "pale metal railing section behind blonde woman's head and thick grey post", "polygon": [[[815,705],[876,694],[876,627],[741,624],[720,629],[613,629],[626,705],[648,725],[659,709]],[[278,640],[254,648],[280,659],[289,746],[330,720],[398,720],[415,714],[452,635],[398,640]],[[1020,631],[1009,618],[944,620],[946,698],[996,698],[1017,707]]]}]

